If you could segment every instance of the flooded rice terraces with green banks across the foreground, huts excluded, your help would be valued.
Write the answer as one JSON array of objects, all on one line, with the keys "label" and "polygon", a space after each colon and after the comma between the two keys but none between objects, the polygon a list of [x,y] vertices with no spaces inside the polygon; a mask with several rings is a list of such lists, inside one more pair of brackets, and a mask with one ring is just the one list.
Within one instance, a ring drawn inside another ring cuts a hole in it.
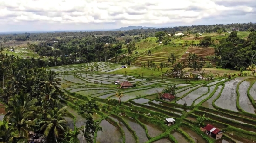
[{"label": "flooded rice terraces with green banks across the foreground, huts excluded", "polygon": [[[62,99],[69,104],[96,99],[100,111],[94,119],[103,132],[97,132],[94,143],[256,143],[253,101],[256,78],[253,76],[215,77],[213,81],[199,79],[188,83],[178,78],[150,76],[148,69],[144,77],[129,72],[122,74],[123,69],[108,73],[121,65],[97,64],[98,71],[95,67],[87,70],[85,64],[47,68],[59,73],[60,88],[65,93]],[[130,71],[142,70],[133,68]],[[136,86],[122,89],[114,81],[128,81]],[[176,98],[173,101],[159,99],[157,91],[163,91],[169,84],[177,85]],[[116,92],[124,95],[121,104]],[[200,130],[196,118],[203,114],[207,118],[205,124],[225,131],[222,139],[216,141]],[[165,118],[174,118],[175,124],[168,127]],[[72,120],[67,120],[72,126]],[[74,125],[81,127],[79,121]]]}]

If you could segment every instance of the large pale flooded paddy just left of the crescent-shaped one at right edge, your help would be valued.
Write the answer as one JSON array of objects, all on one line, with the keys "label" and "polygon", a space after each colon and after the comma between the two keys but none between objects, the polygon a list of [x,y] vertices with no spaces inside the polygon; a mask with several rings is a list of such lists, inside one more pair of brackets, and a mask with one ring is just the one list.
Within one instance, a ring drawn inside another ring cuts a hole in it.
[{"label": "large pale flooded paddy just left of the crescent-shaped one at right edge", "polygon": [[225,82],[225,87],[219,99],[215,101],[215,105],[222,108],[238,112],[236,108],[236,87],[245,77],[237,77],[231,81]]}]

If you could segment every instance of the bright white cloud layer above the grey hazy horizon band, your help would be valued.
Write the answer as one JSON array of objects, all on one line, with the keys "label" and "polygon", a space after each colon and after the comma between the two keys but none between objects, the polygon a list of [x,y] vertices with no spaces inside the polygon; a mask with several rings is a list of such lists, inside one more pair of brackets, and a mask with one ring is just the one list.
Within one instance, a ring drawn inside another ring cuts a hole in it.
[{"label": "bright white cloud layer above the grey hazy horizon band", "polygon": [[246,14],[255,14],[254,3],[255,0],[0,0],[0,24],[192,24],[200,19],[228,16],[225,14],[244,19]]}]

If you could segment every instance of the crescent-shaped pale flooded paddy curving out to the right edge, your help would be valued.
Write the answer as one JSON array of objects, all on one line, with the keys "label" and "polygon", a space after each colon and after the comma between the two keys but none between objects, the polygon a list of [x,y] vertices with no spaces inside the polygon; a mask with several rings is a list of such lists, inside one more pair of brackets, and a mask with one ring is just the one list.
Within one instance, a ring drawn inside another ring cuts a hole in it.
[{"label": "crescent-shaped pale flooded paddy curving out to the right edge", "polygon": [[251,104],[251,101],[249,100],[248,96],[247,96],[247,90],[250,86],[250,82],[248,81],[243,81],[240,85],[239,85],[239,105],[240,107],[245,111],[245,112],[249,112],[254,114],[255,113],[255,109]]}]

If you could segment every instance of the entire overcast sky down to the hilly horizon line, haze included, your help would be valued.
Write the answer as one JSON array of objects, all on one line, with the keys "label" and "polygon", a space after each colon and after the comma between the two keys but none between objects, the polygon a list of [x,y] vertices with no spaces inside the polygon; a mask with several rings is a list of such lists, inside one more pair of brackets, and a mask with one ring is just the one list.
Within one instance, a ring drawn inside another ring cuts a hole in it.
[{"label": "entire overcast sky down to the hilly horizon line, haze included", "polygon": [[255,18],[255,0],[0,0],[0,32],[211,25]]}]

